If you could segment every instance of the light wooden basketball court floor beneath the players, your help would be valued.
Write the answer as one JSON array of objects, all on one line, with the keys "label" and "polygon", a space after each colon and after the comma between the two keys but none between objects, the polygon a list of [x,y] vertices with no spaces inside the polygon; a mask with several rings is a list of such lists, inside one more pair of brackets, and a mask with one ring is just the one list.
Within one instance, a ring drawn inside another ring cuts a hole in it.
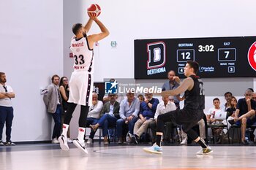
[{"label": "light wooden basketball court floor beneath the players", "polygon": [[17,144],[0,147],[0,170],[80,170],[80,169],[232,169],[256,170],[255,146],[212,146],[211,155],[196,155],[197,146],[163,146],[163,155],[143,152],[150,145],[94,144],[89,154],[69,144]]}]

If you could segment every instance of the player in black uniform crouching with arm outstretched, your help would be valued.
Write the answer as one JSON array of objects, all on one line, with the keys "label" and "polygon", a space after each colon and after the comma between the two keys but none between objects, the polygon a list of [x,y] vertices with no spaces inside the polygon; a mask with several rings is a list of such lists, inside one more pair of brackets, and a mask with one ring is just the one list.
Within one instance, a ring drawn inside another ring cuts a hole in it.
[{"label": "player in black uniform crouching with arm outstretched", "polygon": [[196,76],[198,68],[199,65],[197,62],[187,61],[184,67],[184,75],[187,78],[181,82],[178,88],[162,91],[162,96],[177,96],[185,92],[184,108],[167,112],[157,117],[157,142],[152,147],[143,148],[144,151],[162,154],[161,137],[165,129],[165,122],[171,121],[181,125],[182,130],[197,144],[200,144],[202,150],[198,151],[197,154],[209,154],[213,152],[211,147],[208,147],[206,142],[192,129],[203,118],[203,109],[205,107],[203,82]]}]

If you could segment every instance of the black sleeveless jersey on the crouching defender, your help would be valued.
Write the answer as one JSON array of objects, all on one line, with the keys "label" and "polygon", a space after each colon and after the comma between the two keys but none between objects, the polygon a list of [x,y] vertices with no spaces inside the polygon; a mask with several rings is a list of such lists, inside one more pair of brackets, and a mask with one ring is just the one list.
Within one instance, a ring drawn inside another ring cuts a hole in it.
[{"label": "black sleeveless jersey on the crouching defender", "polygon": [[192,90],[185,91],[184,109],[205,109],[205,95],[203,82],[200,77],[190,76],[194,81]]}]

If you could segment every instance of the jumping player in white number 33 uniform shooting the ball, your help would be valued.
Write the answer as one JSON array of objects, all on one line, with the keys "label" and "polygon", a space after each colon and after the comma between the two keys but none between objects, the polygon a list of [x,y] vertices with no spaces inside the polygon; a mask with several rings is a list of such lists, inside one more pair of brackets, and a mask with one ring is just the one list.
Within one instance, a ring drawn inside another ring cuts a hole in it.
[{"label": "jumping player in white number 33 uniform shooting the ball", "polygon": [[[64,119],[62,134],[59,136],[61,149],[69,150],[69,146],[67,145],[67,129],[69,128],[69,123],[75,107],[77,104],[80,104],[81,109],[78,138],[73,141],[73,144],[86,153],[88,153],[88,151],[84,141],[84,134],[86,128],[86,117],[89,112],[89,106],[91,105],[92,90],[94,85],[94,42],[104,39],[109,35],[108,28],[106,28],[102,22],[99,21],[96,15],[91,12],[88,12],[88,15],[89,20],[86,23],[86,26],[83,26],[81,23],[76,23],[72,27],[72,31],[75,36],[73,36],[71,40],[70,49],[72,50],[74,56],[74,72],[72,72],[69,81],[69,107],[67,109],[67,115]],[[91,28],[93,21],[99,26],[101,33],[87,36],[86,33]]]}]

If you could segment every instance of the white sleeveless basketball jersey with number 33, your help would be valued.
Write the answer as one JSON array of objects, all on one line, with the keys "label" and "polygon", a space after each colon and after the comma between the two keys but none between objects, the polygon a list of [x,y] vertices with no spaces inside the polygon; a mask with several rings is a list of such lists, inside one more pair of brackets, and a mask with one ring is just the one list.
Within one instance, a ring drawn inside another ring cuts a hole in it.
[{"label": "white sleeveless basketball jersey with number 33", "polygon": [[70,49],[74,58],[74,71],[86,71],[92,73],[94,51],[89,48],[86,37],[72,39]]}]

